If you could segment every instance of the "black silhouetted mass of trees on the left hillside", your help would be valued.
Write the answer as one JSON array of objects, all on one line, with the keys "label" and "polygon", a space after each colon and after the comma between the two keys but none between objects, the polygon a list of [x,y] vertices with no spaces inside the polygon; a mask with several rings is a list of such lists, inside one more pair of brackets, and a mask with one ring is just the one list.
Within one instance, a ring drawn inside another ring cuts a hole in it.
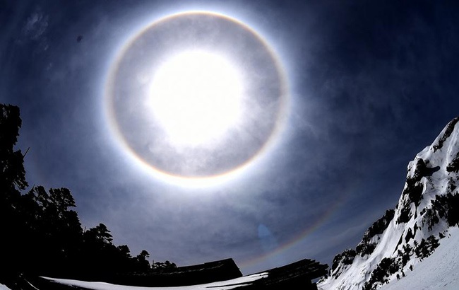
[{"label": "black silhouetted mass of trees on the left hillside", "polygon": [[[104,279],[150,272],[150,254],[142,250],[131,257],[127,245],[112,243],[105,224],[83,231],[67,188],[34,186],[23,192],[24,156],[14,150],[20,126],[19,108],[0,104],[0,283],[23,275]],[[169,261],[161,265],[176,267]]]}]

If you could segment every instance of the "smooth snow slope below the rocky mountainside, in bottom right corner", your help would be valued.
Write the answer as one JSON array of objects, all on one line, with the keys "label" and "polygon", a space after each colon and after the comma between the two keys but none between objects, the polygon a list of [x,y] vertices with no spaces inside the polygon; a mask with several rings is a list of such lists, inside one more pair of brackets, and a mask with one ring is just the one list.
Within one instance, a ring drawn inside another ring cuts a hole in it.
[{"label": "smooth snow slope below the rocky mountainside, in bottom right corner", "polygon": [[450,228],[451,237],[443,238],[436,251],[406,277],[392,281],[378,290],[458,290],[459,289],[459,228]]}]

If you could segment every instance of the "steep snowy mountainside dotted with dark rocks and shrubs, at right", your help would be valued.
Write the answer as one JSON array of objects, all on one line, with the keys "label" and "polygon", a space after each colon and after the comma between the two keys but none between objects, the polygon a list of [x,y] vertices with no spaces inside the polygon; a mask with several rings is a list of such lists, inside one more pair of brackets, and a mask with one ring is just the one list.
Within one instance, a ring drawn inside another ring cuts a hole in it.
[{"label": "steep snowy mountainside dotted with dark rocks and shrubs, at right", "polygon": [[401,281],[436,248],[457,240],[448,237],[451,227],[459,226],[458,121],[449,122],[408,164],[395,209],[374,222],[355,249],[335,256],[330,276],[319,289],[369,290]]}]

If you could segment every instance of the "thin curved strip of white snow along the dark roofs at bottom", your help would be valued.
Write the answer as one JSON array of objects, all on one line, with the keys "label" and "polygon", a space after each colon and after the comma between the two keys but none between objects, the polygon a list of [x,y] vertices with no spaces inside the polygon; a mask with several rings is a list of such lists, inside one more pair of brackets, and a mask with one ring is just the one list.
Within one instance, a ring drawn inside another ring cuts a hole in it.
[{"label": "thin curved strip of white snow along the dark roofs at bottom", "polygon": [[[44,279],[48,279],[50,281],[65,284],[69,286],[79,286],[85,289],[93,289],[93,290],[229,290],[234,289],[236,287],[242,286],[241,284],[254,282],[258,279],[262,279],[268,277],[268,273],[260,273],[260,274],[253,274],[249,276],[244,276],[236,279],[231,279],[222,282],[214,282],[208,284],[201,284],[201,285],[193,285],[193,286],[177,286],[177,287],[139,287],[139,286],[125,286],[125,285],[117,285],[117,284],[109,284],[103,282],[84,282],[78,280],[70,280],[70,279],[55,279],[55,278],[48,278],[43,277]],[[0,290],[4,290],[0,286]],[[8,288],[6,288],[8,290]]]}]

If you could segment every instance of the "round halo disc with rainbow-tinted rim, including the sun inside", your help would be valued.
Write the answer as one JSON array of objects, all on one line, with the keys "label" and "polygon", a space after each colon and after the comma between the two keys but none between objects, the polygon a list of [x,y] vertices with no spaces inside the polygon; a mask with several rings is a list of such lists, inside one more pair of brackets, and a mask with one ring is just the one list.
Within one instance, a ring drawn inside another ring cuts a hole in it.
[{"label": "round halo disc with rainbow-tinted rim, including the sun inside", "polygon": [[234,178],[271,148],[285,120],[287,82],[254,30],[189,11],[157,19],[126,42],[106,95],[115,140],[137,164],[162,180],[209,184]]}]

